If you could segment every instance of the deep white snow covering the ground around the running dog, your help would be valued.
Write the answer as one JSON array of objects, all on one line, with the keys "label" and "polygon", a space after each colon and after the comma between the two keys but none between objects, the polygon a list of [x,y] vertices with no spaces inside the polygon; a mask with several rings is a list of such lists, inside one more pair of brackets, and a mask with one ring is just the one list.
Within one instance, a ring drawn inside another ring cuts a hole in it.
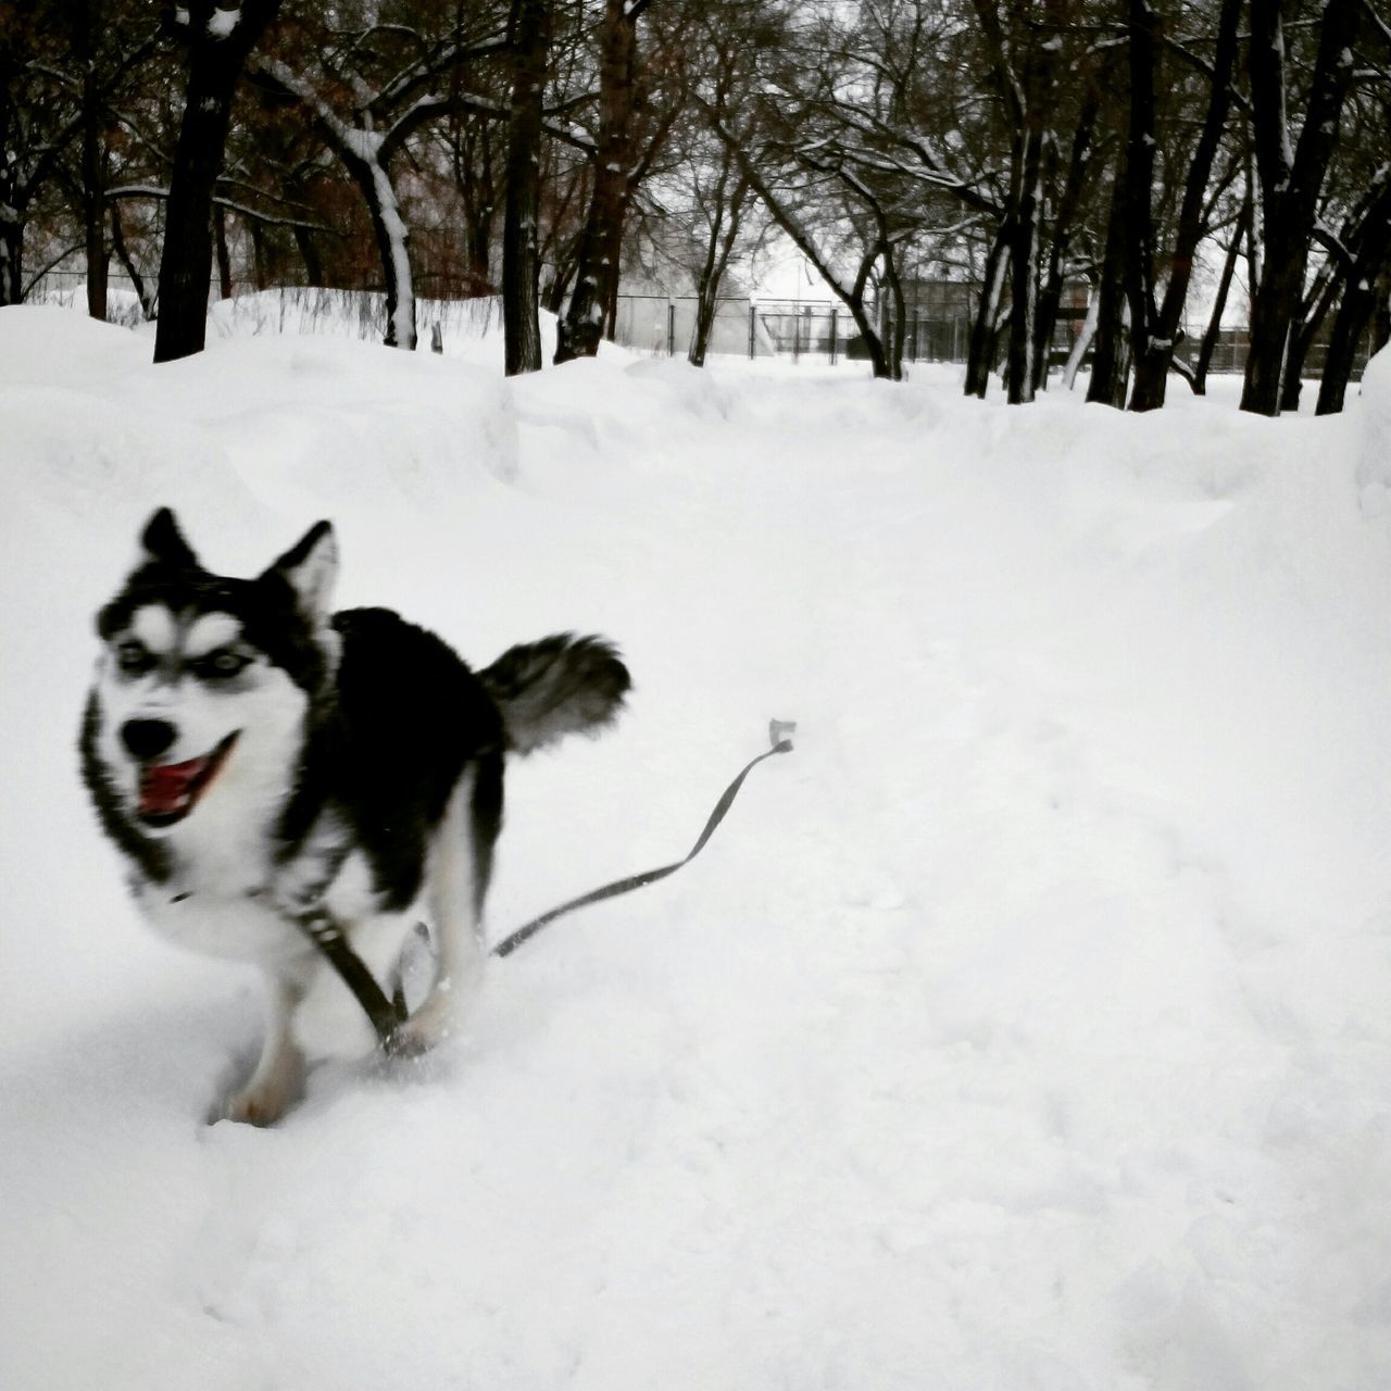
[{"label": "deep white snow covering the ground around the running dog", "polygon": [[[264,325],[262,325],[264,327]],[[1391,1383],[1391,362],[1340,419],[0,314],[7,1391]],[[637,689],[509,773],[494,963],[403,1075],[202,1124],[253,981],[75,768],[172,504],[465,657]]]}]

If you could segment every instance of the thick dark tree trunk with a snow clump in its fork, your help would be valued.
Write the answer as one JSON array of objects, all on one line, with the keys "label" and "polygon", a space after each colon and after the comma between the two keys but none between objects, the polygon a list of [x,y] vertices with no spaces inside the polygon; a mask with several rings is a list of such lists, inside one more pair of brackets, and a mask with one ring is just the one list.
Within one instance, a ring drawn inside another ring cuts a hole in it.
[{"label": "thick dark tree trunk with a snow clump in its fork", "polygon": [[[156,362],[202,352],[207,341],[213,185],[223,168],[242,67],[278,8],[280,0],[245,0],[239,11],[216,10],[206,0],[189,6],[189,71],[164,210]],[[230,32],[210,31],[214,15],[232,13],[238,18]]]}]

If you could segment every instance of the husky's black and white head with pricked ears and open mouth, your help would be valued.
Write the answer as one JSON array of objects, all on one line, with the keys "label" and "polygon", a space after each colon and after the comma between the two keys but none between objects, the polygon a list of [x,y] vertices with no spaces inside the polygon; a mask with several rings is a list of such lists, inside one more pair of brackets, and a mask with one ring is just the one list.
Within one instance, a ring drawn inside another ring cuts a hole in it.
[{"label": "husky's black and white head with pricked ears and open mouth", "polygon": [[337,566],[327,522],[241,580],[203,569],[168,508],[149,520],[135,569],[97,615],[89,712],[106,790],[132,822],[167,832],[220,787],[259,801],[288,790],[334,661]]}]

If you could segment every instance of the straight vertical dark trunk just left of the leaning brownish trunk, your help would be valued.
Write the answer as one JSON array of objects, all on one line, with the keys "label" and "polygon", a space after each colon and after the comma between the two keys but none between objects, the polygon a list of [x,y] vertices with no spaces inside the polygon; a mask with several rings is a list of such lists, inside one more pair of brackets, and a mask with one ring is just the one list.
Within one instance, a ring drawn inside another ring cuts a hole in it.
[{"label": "straight vertical dark trunk just left of the leaning brownish trunk", "polygon": [[502,231],[502,337],[509,377],[541,370],[541,115],[551,47],[548,0],[512,0],[515,72]]}]

